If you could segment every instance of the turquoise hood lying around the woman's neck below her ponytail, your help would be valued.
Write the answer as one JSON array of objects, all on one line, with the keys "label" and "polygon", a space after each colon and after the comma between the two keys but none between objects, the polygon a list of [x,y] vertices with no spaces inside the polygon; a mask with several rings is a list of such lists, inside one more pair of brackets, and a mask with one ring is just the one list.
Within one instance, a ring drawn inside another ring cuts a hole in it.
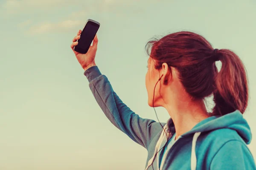
[{"label": "turquoise hood lying around the woman's neck below her ponytail", "polygon": [[[168,130],[172,133],[175,132],[175,127],[173,125],[172,119],[167,122]],[[224,116],[211,116],[203,121],[199,122],[192,130],[184,133],[182,136],[188,136],[195,134],[197,132],[207,132],[217,129],[228,128],[236,130],[236,132],[241,136],[246,144],[250,144],[252,139],[252,133],[247,121],[243,118],[240,111],[236,110],[232,113],[228,113]]]}]

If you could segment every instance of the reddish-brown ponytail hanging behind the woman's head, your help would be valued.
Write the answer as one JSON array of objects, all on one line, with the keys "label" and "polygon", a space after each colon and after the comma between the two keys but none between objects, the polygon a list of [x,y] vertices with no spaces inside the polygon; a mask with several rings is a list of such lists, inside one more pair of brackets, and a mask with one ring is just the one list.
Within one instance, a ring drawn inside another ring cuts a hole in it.
[{"label": "reddish-brown ponytail hanging behind the woman's head", "polygon": [[248,104],[248,82],[243,62],[227,49],[218,50],[215,55],[222,66],[215,74],[213,100],[216,105],[212,113],[225,115],[236,110],[244,113]]}]

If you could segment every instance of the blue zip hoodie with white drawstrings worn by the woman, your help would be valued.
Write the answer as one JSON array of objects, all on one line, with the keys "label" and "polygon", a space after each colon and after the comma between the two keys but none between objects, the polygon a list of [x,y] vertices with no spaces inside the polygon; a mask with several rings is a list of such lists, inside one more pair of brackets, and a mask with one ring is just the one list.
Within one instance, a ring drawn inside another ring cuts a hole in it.
[{"label": "blue zip hoodie with white drawstrings worn by the woman", "polygon": [[[252,138],[250,127],[239,111],[204,119],[175,141],[172,119],[162,123],[163,130],[159,122],[140,118],[119,99],[97,66],[87,69],[84,75],[112,124],[148,150],[145,169],[256,170],[247,148]],[[167,148],[163,148],[167,142],[165,132],[171,133]]]}]

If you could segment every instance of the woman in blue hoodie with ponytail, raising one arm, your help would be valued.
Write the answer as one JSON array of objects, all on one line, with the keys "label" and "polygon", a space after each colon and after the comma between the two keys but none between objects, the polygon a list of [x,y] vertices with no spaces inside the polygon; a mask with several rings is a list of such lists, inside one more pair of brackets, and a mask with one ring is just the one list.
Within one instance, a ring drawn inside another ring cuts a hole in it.
[{"label": "woman in blue hoodie with ponytail, raising one arm", "polygon": [[[204,37],[185,31],[148,42],[148,105],[166,108],[171,117],[162,127],[140,118],[119,99],[95,64],[97,43],[96,36],[87,54],[73,51],[108,119],[148,150],[146,170],[256,169],[247,148],[250,127],[242,116],[248,102],[247,77],[235,53],[213,49]],[[207,113],[204,99],[211,94],[216,105]]]}]

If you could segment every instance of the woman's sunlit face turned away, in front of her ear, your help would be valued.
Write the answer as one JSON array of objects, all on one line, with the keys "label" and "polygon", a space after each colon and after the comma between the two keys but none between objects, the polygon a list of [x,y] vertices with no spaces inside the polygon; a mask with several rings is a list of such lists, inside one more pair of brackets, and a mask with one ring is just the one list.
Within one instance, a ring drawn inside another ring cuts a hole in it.
[{"label": "woman's sunlit face turned away, in front of her ear", "polygon": [[[154,60],[149,57],[148,59],[148,72],[145,77],[145,83],[146,83],[146,88],[148,92],[148,105],[153,107],[153,96],[154,96],[154,107],[160,106],[157,101],[160,98],[159,95],[159,89],[160,89],[160,82],[157,83],[158,79],[160,78],[159,76],[159,71],[157,71],[154,68]],[[157,86],[155,88],[155,93],[154,93],[154,87],[157,83]]]}]

